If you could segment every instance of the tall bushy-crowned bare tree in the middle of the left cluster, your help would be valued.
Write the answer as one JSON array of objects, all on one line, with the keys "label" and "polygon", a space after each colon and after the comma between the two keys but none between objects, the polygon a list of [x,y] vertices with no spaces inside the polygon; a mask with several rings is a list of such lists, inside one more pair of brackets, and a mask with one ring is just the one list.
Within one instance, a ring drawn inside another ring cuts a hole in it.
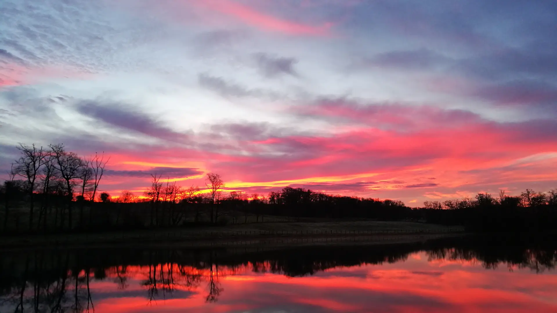
[{"label": "tall bushy-crowned bare tree in the middle of the left cluster", "polygon": [[[67,195],[67,209],[68,209],[68,225],[72,228],[72,209],[71,203],[74,199],[74,179],[80,177],[80,169],[82,167],[82,160],[77,154],[67,152],[64,150],[62,144],[50,145],[52,155],[56,159],[55,168],[58,170],[60,176],[66,182],[66,195]],[[63,213],[62,213],[62,227],[63,227]]]}]

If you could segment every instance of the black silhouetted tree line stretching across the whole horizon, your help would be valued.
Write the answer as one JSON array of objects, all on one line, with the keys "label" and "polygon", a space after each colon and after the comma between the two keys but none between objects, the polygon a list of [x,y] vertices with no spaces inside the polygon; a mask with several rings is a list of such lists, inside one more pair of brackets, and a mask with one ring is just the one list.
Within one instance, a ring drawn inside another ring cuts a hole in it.
[{"label": "black silhouetted tree line stretching across the whole horizon", "polygon": [[[112,197],[100,189],[110,158],[81,157],[62,144],[47,148],[20,144],[21,156],[0,187],[4,232],[65,232],[102,229],[183,227],[308,218],[377,219],[464,225],[473,231],[554,229],[557,188],[526,189],[519,196],[478,193],[475,198],[426,201],[409,208],[400,200],[380,200],[284,187],[267,195],[225,193],[219,174],[205,185],[182,187],[153,173],[145,192],[124,190]],[[18,179],[16,179],[18,178]]]}]

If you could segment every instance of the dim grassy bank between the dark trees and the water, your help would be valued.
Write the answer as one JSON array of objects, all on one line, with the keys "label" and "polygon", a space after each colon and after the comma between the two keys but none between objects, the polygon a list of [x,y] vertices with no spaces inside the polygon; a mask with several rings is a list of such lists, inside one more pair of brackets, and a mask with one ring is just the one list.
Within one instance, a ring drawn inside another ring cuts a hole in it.
[{"label": "dim grassy bank between the dark trees and the water", "polygon": [[411,242],[458,236],[463,227],[416,222],[269,222],[221,227],[165,228],[142,231],[31,234],[0,237],[0,248],[102,247],[125,244],[167,247],[299,246],[345,242]]}]

